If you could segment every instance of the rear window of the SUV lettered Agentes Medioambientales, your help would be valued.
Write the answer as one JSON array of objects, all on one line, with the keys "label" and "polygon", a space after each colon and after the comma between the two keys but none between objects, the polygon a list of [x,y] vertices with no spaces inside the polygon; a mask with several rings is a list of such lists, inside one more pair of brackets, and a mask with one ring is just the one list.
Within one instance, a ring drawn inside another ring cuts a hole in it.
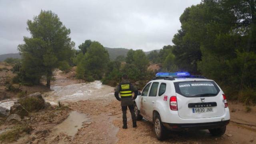
[{"label": "rear window of the SUV lettered Agentes Medioambientales", "polygon": [[216,96],[220,89],[214,81],[175,82],[176,93],[185,97]]}]

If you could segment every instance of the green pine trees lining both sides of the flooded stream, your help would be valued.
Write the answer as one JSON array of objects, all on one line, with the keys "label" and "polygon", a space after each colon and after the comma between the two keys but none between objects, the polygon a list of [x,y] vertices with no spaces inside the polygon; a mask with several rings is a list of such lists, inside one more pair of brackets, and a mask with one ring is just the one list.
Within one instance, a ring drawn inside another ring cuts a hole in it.
[{"label": "green pine trees lining both sides of the flooded stream", "polygon": [[77,66],[79,79],[116,86],[126,73],[141,89],[156,73],[148,66],[156,63],[161,66],[158,71],[204,75],[215,80],[229,99],[255,104],[255,6],[255,0],[202,0],[180,16],[174,45],[148,55],[129,50],[115,60],[110,60],[100,42],[92,40],[85,40],[76,51],[70,29],[53,12],[41,11],[27,22],[31,37],[24,37],[25,44],[18,46],[22,62],[16,66],[13,81],[32,85],[45,78],[50,87],[56,68],[68,72]]}]

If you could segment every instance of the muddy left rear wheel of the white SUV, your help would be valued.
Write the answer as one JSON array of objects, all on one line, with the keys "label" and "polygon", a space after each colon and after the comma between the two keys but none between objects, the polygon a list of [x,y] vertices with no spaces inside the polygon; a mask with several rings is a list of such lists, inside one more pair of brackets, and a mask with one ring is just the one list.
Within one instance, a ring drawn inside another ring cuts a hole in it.
[{"label": "muddy left rear wheel of the white SUV", "polygon": [[156,114],[154,118],[154,132],[158,140],[162,141],[166,138],[166,129],[162,124],[159,114]]}]

